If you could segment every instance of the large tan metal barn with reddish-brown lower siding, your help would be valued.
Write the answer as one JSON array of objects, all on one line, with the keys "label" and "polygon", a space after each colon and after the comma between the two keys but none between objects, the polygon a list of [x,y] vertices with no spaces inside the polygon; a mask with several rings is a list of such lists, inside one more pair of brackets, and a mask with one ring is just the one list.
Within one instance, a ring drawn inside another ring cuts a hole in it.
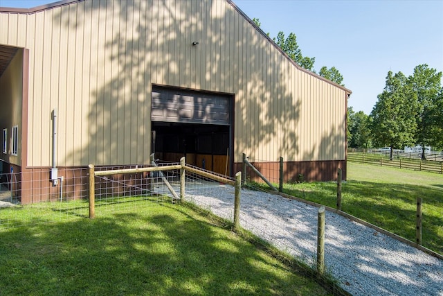
[{"label": "large tan metal barn with reddish-brown lower siding", "polygon": [[0,158],[31,172],[24,204],[51,166],[153,152],[223,173],[228,154],[231,175],[242,153],[283,157],[288,178],[346,175],[350,90],[300,68],[230,0],[0,8],[0,28]]}]

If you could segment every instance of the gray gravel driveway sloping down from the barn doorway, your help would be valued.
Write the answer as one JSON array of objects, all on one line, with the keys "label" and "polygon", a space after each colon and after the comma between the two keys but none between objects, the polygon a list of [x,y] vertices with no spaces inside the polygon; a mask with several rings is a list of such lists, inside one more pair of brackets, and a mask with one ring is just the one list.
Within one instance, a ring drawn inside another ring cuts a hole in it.
[{"label": "gray gravel driveway sloping down from the barn doorway", "polygon": [[[233,220],[232,186],[188,186],[186,199]],[[240,225],[314,265],[318,208],[242,189]],[[441,295],[443,261],[326,211],[325,265],[352,295]]]}]

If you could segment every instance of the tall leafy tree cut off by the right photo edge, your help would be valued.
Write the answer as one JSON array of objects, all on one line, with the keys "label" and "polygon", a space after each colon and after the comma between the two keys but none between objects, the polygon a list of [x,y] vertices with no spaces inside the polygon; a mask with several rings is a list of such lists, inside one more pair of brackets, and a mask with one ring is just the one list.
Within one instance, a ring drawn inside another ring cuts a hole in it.
[{"label": "tall leafy tree cut off by the right photo edge", "polygon": [[422,159],[426,159],[425,146],[439,146],[442,138],[442,72],[420,64],[414,68],[409,84],[417,96],[417,143],[422,146]]}]

